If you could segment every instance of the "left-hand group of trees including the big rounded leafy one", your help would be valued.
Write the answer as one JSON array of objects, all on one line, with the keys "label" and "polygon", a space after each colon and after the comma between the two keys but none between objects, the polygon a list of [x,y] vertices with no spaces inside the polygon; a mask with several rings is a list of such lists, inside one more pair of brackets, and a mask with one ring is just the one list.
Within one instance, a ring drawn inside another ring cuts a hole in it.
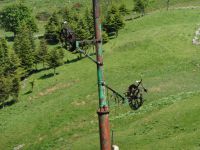
[{"label": "left-hand group of trees including the big rounded leafy one", "polygon": [[54,69],[63,63],[61,48],[48,50],[45,39],[36,47],[34,32],[38,31],[31,11],[22,4],[6,7],[0,13],[1,27],[14,33],[12,48],[0,38],[0,106],[18,101],[20,80],[37,70],[37,64]]}]

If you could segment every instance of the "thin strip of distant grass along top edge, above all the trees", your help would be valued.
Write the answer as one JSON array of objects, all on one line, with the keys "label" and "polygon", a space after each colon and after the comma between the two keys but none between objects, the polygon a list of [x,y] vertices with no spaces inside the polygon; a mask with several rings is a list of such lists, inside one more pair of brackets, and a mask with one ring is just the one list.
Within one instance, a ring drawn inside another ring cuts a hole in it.
[{"label": "thin strip of distant grass along top edge, above all the trees", "polygon": [[[12,0],[2,0],[0,1],[0,9],[10,5],[12,3],[19,2],[18,0],[12,1]],[[83,7],[91,7],[92,0],[24,0],[24,3],[29,6],[34,14],[41,12],[41,11],[48,11],[53,12],[57,8],[62,8],[65,6],[72,6],[74,3],[81,3]],[[124,3],[126,6],[131,10],[133,9],[133,0],[108,0],[107,2],[101,1],[102,5],[106,5],[107,3],[110,4],[121,4]],[[170,6],[171,7],[177,7],[177,6],[197,6],[200,5],[199,0],[170,0]],[[163,0],[150,0],[149,1],[149,10],[155,10],[155,9],[162,9],[166,7],[166,1]]]}]

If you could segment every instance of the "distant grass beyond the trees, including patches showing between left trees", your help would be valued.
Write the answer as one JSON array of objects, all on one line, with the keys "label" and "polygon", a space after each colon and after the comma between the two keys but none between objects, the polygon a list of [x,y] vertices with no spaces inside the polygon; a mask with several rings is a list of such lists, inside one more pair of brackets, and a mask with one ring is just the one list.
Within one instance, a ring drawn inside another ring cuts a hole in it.
[{"label": "distant grass beyond the trees, including patches showing between left trees", "polygon": [[[0,10],[4,7],[11,5],[13,3],[18,3],[19,0],[11,1],[11,0],[2,0],[0,1]],[[63,7],[72,7],[75,3],[82,4],[80,14],[83,14],[84,9],[86,7],[90,8],[92,6],[92,0],[24,0],[23,3],[28,6],[33,13],[33,16],[37,16],[37,14],[41,12],[47,12],[52,14],[53,12],[59,10]],[[103,8],[103,13],[106,13],[109,5],[115,4],[125,4],[126,7],[132,11],[134,2],[133,0],[109,0],[109,1],[101,1],[101,6]],[[108,5],[109,4],[109,5]],[[170,0],[169,7],[171,9],[179,8],[179,7],[188,7],[188,6],[200,6],[199,0]],[[166,1],[164,0],[150,0],[147,7],[147,12],[155,11],[155,10],[163,10],[166,8]],[[44,33],[44,25],[46,21],[37,21],[37,25],[39,28],[39,33],[36,34],[43,34]],[[1,36],[12,36],[12,33],[5,33],[3,30],[0,29],[0,37]]]}]

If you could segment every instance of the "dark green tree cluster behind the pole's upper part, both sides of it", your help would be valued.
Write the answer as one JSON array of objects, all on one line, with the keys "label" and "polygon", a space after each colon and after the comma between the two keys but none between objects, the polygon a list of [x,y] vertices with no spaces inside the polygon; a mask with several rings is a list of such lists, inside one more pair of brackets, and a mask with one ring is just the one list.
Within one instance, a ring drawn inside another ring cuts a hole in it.
[{"label": "dark green tree cluster behind the pole's upper part, both sides of it", "polygon": [[[123,16],[128,13],[125,5],[117,7],[111,6],[102,17],[103,42],[109,40],[113,32],[117,33],[124,27]],[[44,37],[49,43],[59,43],[62,23],[65,22],[76,34],[77,40],[89,40],[94,38],[94,22],[92,10],[86,8],[83,15],[77,11],[71,11],[70,8],[63,8],[54,12],[45,26]]]}]

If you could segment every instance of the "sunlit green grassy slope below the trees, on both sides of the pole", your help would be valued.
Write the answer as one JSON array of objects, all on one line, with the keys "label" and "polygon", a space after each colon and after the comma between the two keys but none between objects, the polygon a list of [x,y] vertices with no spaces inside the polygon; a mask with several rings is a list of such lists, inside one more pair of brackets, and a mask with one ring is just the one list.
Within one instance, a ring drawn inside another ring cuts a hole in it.
[{"label": "sunlit green grassy slope below the trees, on both sides of the pole", "polygon": [[[142,75],[149,89],[136,112],[111,103],[111,129],[120,149],[200,149],[200,48],[191,42],[199,23],[199,10],[155,12],[127,22],[104,45],[108,84],[124,92]],[[48,77],[52,72],[24,81],[20,102],[0,110],[0,149],[99,148],[95,64],[72,61]],[[28,93],[33,79],[34,92]]]}]

